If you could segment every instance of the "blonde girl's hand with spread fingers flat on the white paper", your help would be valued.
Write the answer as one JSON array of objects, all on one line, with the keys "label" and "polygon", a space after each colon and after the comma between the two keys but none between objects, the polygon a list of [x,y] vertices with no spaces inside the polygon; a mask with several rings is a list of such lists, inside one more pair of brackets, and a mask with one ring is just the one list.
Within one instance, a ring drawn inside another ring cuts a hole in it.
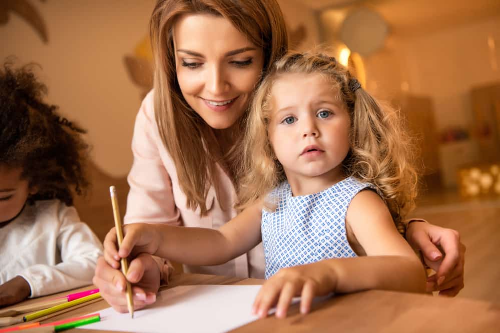
[{"label": "blonde girl's hand with spread fingers flat on the white paper", "polygon": [[252,313],[265,318],[269,309],[277,304],[276,317],[285,318],[293,297],[300,296],[300,312],[307,314],[315,296],[327,295],[336,287],[336,273],[321,261],[283,268],[264,283]]}]

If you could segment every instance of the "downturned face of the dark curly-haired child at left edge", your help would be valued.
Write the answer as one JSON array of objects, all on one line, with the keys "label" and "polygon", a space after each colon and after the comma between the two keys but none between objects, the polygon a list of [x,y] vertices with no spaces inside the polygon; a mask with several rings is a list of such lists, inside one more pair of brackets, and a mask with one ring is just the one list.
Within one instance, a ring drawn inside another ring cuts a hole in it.
[{"label": "downturned face of the dark curly-haired child at left edge", "polygon": [[22,168],[8,168],[0,164],[0,225],[23,209],[30,194],[28,180],[22,179]]}]

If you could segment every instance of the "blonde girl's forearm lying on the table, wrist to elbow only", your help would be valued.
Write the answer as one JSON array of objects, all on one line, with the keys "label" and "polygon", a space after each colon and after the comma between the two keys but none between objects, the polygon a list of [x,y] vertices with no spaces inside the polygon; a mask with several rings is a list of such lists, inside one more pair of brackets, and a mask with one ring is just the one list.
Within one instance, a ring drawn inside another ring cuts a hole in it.
[{"label": "blonde girl's forearm lying on the table, wrist to elbow only", "polygon": [[368,256],[330,259],[325,264],[336,276],[335,290],[340,293],[369,289],[425,291],[425,271],[416,257]]}]

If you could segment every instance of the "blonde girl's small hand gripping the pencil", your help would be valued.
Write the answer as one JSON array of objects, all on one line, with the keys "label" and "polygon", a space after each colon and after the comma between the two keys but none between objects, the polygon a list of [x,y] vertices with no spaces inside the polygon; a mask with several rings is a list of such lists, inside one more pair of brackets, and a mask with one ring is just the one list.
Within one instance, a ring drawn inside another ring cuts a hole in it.
[{"label": "blonde girl's small hand gripping the pencil", "polygon": [[148,223],[123,226],[122,246],[118,249],[116,229],[112,228],[104,238],[104,259],[111,267],[118,269],[122,258],[134,258],[140,253],[154,255],[160,245],[160,234],[156,229],[157,225]]}]

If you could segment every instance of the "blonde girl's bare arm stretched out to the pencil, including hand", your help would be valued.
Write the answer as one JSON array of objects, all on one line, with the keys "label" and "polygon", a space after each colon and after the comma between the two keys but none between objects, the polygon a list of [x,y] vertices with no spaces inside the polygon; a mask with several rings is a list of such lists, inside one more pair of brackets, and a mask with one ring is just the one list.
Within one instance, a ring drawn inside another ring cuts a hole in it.
[{"label": "blonde girl's bare arm stretched out to the pencil, including hand", "polygon": [[[262,203],[258,202],[219,230],[146,223],[125,225],[118,254],[124,258],[130,253],[145,252],[187,265],[220,265],[248,252],[261,242],[261,216]],[[111,242],[113,230],[108,236]]]}]

